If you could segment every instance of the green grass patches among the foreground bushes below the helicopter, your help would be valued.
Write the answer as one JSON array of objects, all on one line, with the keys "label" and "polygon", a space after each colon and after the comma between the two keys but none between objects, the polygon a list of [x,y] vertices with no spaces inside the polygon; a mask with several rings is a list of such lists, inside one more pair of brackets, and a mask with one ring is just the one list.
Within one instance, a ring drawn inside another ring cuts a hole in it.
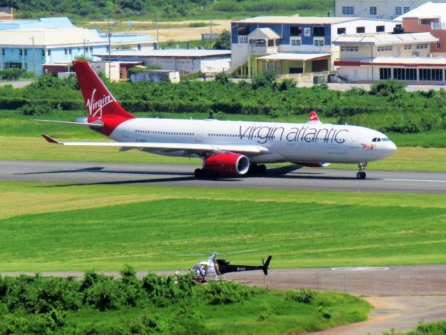
[{"label": "green grass patches among the foreground bushes below the helicopter", "polygon": [[[338,292],[321,292],[318,303],[332,314],[324,319],[317,311],[318,304],[299,304],[285,301],[283,292],[268,291],[254,297],[244,304],[209,306],[197,301],[194,310],[203,315],[204,324],[217,334],[291,334],[314,332],[346,323],[367,319],[371,306],[364,300]],[[260,313],[266,309],[272,312],[269,318],[260,320]],[[99,312],[85,309],[70,313],[70,319],[78,327],[90,324],[125,325],[141,313],[160,313],[170,316],[176,308],[121,308],[116,311]],[[228,327],[228,325],[231,325]]]}]

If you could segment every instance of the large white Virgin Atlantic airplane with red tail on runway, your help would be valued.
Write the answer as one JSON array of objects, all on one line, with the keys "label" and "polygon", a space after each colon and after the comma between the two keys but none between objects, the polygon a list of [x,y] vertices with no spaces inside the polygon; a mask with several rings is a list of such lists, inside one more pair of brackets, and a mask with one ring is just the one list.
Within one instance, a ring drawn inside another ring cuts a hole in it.
[{"label": "large white Virgin Atlantic airplane with red tail on runway", "polygon": [[194,171],[196,177],[262,174],[265,163],[289,162],[300,168],[357,163],[356,177],[364,179],[368,162],[397,149],[383,133],[360,126],[323,124],[316,112],[304,124],[134,117],[116,101],[89,62],[72,64],[89,116],[75,122],[36,121],[86,126],[114,142],[59,142],[41,134],[50,143],[198,157],[203,159],[203,168]]}]

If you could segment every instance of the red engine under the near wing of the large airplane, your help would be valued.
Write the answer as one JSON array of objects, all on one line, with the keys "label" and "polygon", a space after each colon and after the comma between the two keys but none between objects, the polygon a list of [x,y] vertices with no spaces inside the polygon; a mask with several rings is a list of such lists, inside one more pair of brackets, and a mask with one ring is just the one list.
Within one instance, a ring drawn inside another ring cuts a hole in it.
[{"label": "red engine under the near wing of the large airplane", "polygon": [[203,161],[203,168],[226,174],[245,174],[249,169],[249,159],[240,154],[217,154]]}]

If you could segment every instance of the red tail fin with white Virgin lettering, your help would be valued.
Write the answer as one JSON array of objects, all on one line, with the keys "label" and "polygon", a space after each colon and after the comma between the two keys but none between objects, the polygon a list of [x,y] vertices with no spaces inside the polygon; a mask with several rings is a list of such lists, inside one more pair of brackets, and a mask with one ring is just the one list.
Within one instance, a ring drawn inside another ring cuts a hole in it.
[{"label": "red tail fin with white Virgin lettering", "polygon": [[100,119],[109,115],[134,118],[118,104],[88,61],[73,61],[72,64],[90,117]]}]

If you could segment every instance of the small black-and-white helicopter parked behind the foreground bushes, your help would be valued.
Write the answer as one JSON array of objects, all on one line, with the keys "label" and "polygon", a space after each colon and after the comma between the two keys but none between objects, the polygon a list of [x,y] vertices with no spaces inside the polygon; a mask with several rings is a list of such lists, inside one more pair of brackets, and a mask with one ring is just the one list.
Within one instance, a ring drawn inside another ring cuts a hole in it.
[{"label": "small black-and-white helicopter parked behind the foreground bushes", "polygon": [[[243,250],[243,251],[232,251],[229,253],[247,253],[251,251],[257,250]],[[262,260],[263,265],[253,266],[253,265],[231,265],[226,260],[217,260],[217,255],[226,255],[229,253],[194,253],[194,254],[183,254],[180,256],[204,256],[208,255],[207,260],[202,260],[198,262],[197,265],[192,267],[189,271],[192,272],[192,276],[199,281],[206,281],[208,277],[217,278],[217,276],[221,276],[222,274],[227,274],[229,272],[240,272],[240,271],[254,271],[254,270],[262,270],[265,276],[268,275],[268,267],[270,265],[270,261],[272,255],[269,255],[266,262]],[[203,272],[201,272],[203,271]]]}]

